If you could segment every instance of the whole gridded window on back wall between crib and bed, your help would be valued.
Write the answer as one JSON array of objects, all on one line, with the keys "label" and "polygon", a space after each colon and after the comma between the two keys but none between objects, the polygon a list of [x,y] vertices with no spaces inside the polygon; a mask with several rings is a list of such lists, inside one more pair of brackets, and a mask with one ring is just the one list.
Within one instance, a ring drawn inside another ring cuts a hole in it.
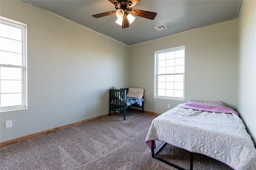
[{"label": "whole gridded window on back wall between crib and bed", "polygon": [[156,98],[184,100],[185,47],[155,52]]}]

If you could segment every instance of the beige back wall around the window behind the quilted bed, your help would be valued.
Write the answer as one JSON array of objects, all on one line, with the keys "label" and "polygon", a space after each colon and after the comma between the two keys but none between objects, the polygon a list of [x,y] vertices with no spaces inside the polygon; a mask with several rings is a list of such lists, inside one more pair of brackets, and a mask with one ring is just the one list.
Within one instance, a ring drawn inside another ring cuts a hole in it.
[{"label": "beige back wall around the window behind the quilted bed", "polygon": [[[130,86],[145,88],[145,110],[164,113],[188,100],[220,100],[236,106],[238,20],[130,47]],[[168,28],[171,29],[171,28]],[[154,98],[154,52],[185,46],[185,101]]]}]

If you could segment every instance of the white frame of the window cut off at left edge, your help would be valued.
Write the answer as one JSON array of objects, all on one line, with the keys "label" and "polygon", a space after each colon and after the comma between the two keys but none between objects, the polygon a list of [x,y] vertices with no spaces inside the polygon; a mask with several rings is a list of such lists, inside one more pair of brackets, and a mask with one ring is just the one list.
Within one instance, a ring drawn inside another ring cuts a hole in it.
[{"label": "white frame of the window cut off at left edge", "polygon": [[[26,28],[27,25],[18,21],[10,20],[8,18],[4,18],[0,16],[0,23],[9,25],[12,27],[20,28],[22,30],[22,65],[11,65],[11,64],[0,64],[0,67],[9,67],[9,68],[21,68],[22,75],[22,104],[16,106],[5,106],[0,107],[0,112],[4,111],[12,111],[18,109],[26,109],[27,108],[27,42],[26,42]],[[7,51],[9,52],[9,51]],[[1,85],[0,85],[1,86]],[[2,94],[2,93],[1,93]],[[0,98],[1,100],[1,98]]]}]

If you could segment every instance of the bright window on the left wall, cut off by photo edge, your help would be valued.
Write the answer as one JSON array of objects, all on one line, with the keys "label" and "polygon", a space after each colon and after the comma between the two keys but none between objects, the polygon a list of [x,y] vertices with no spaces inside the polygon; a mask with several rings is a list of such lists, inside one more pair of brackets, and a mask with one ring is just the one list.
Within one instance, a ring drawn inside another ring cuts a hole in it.
[{"label": "bright window on the left wall, cut off by photo edge", "polygon": [[0,111],[26,108],[26,24],[0,18]]}]

